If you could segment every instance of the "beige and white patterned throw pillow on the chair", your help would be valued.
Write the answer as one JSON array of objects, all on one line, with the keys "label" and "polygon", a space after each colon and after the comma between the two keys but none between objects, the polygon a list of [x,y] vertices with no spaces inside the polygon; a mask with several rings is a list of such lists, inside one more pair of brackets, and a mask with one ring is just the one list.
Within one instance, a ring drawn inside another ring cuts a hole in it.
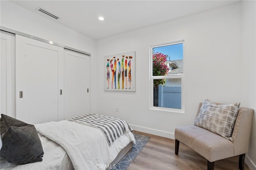
[{"label": "beige and white patterned throw pillow on the chair", "polygon": [[240,103],[216,105],[206,99],[194,125],[205,128],[232,141],[231,135]]}]

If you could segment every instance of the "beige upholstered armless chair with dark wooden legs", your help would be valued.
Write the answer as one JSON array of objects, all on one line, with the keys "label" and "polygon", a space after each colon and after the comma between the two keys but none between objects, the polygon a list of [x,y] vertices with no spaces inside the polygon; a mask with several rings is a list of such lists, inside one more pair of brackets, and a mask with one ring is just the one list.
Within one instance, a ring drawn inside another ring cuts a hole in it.
[{"label": "beige upholstered armless chair with dark wooden legs", "polygon": [[[217,105],[217,107],[218,105],[223,105],[221,103],[214,104]],[[237,115],[234,115],[236,117],[234,117],[234,124],[230,136],[225,138],[220,136],[220,134],[216,134],[216,132],[212,132],[214,130],[208,130],[207,127],[202,128],[198,126],[198,124],[196,126],[197,118],[204,109],[207,109],[207,107],[202,108],[202,103],[200,103],[196,114],[195,125],[175,129],[175,154],[178,155],[179,144],[182,142],[207,159],[208,170],[214,169],[214,162],[216,160],[239,155],[239,169],[243,170],[245,154],[248,152],[254,110],[239,107]],[[210,112],[213,113],[214,111]],[[206,113],[204,116],[209,114],[210,113]],[[222,114],[223,113],[220,113],[220,115]],[[203,117],[203,119],[205,118],[206,117]],[[207,120],[211,121],[212,118],[207,117]],[[204,122],[202,124],[204,124]],[[214,127],[215,124],[212,123],[211,126]]]}]

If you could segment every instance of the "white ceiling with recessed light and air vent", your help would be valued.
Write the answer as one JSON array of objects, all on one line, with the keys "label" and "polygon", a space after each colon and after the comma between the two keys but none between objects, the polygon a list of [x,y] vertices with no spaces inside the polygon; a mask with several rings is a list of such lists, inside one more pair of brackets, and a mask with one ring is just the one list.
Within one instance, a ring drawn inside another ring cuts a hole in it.
[{"label": "white ceiling with recessed light and air vent", "polygon": [[[241,0],[12,0],[94,40],[130,32]],[[42,9],[60,17],[56,20]],[[105,18],[98,20],[99,16]]]}]

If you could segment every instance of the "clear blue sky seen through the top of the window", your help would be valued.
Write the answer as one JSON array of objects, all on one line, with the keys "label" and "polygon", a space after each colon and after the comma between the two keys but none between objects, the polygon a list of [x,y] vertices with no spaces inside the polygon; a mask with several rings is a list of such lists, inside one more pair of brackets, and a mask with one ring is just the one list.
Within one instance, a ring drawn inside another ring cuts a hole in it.
[{"label": "clear blue sky seen through the top of the window", "polygon": [[155,52],[163,53],[170,57],[167,60],[183,59],[183,43],[153,48]]}]

